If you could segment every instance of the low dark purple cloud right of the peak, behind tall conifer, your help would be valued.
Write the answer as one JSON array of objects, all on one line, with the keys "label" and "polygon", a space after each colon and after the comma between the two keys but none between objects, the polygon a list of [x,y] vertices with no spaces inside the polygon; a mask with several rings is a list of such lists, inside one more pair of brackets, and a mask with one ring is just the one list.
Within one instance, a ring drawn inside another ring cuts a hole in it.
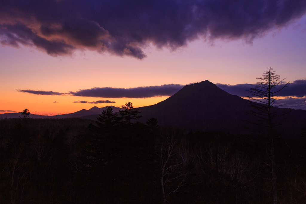
[{"label": "low dark purple cloud right of the peak, behind tall conifer", "polygon": [[[249,83],[237,85],[216,83],[216,85],[232,95],[237,95],[241,97],[250,96],[250,93],[247,90],[256,86],[256,84]],[[275,88],[275,90],[277,90],[277,88],[281,88],[282,86],[284,86],[284,84],[279,84],[278,87]],[[295,80],[292,83],[289,83],[288,87],[278,92],[278,96],[295,96],[299,98],[306,96],[306,80]]]}]

